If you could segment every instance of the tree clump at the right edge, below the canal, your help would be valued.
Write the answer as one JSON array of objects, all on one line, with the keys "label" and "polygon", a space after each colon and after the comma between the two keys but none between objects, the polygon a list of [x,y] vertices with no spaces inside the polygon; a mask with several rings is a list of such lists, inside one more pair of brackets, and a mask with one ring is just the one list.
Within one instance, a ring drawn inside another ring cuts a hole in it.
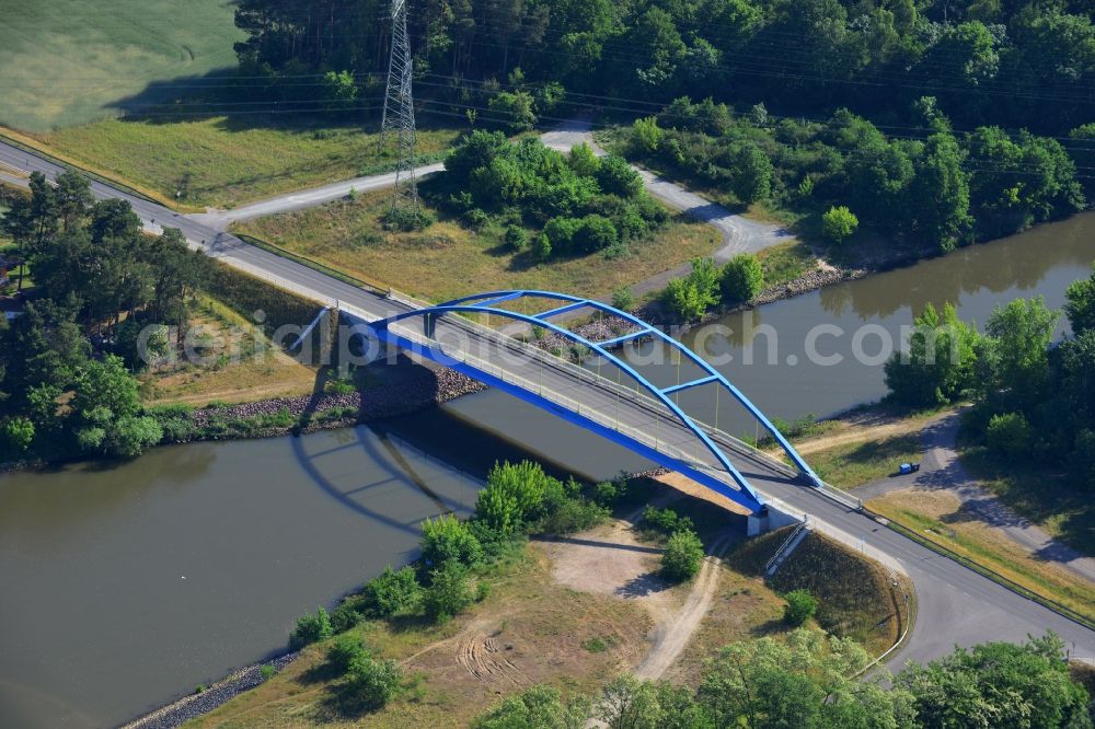
[{"label": "tree clump at the right edge, below the canal", "polygon": [[1067,298],[1072,334],[1058,343],[1060,312],[1040,297],[998,306],[984,334],[949,304],[926,306],[909,351],[886,366],[891,397],[918,407],[970,397],[968,425],[1001,458],[1067,464],[1095,491],[1095,268]]}]

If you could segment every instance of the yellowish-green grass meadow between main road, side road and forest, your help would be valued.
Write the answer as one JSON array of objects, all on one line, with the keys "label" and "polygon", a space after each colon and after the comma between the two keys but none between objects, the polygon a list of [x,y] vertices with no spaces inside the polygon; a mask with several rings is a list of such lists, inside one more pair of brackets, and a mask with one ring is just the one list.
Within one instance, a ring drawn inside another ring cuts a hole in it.
[{"label": "yellowish-green grass meadow between main road, side road and forest", "polygon": [[[419,158],[438,159],[457,135],[454,129],[419,130]],[[299,118],[107,119],[37,139],[102,174],[183,205],[219,208],[387,172],[394,154],[393,144],[381,151],[377,135],[360,126]]]}]

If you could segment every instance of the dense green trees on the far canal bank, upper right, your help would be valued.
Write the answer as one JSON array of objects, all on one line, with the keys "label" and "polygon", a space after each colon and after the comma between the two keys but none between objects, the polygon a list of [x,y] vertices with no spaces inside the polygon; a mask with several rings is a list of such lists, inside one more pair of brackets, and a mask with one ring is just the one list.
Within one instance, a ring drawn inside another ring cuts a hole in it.
[{"label": "dense green trees on the far canal bank, upper right", "polygon": [[[955,134],[933,97],[913,105],[921,138],[890,137],[839,109],[828,121],[736,115],[678,99],[636,120],[631,154],[727,193],[820,220],[834,243],[860,221],[917,251],[1005,235],[1080,210],[1084,190],[1060,141],[980,127]],[[903,243],[902,243],[903,242]]]}]

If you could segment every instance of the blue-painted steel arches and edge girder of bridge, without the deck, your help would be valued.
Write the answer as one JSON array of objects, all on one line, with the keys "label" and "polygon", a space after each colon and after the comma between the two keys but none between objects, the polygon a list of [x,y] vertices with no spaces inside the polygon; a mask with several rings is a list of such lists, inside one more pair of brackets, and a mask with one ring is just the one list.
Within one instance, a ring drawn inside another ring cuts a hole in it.
[{"label": "blue-painted steel arches and edge girder of bridge, without the deck", "polygon": [[[541,312],[539,314],[523,314],[509,309],[503,309],[499,304],[515,302],[520,299],[548,299],[563,302],[555,309],[549,310],[546,312]],[[552,323],[550,320],[560,314],[576,311],[579,309],[592,309],[595,311],[603,312],[611,316],[616,316],[622,319],[634,326],[637,331],[626,334],[614,339],[609,339],[606,342],[591,342],[590,339],[572,332],[563,326]],[[504,378],[497,374],[492,374],[463,361],[452,355],[448,355],[443,351],[440,343],[423,344],[416,339],[408,338],[407,336],[401,335],[397,331],[391,328],[392,324],[403,320],[410,319],[420,319],[423,321],[423,332],[426,333],[426,337],[431,336],[433,322],[436,322],[437,317],[445,314],[460,314],[460,313],[472,313],[472,314],[489,314],[493,316],[500,316],[518,322],[523,322],[531,326],[539,326],[544,329],[551,331],[560,336],[563,336],[570,342],[574,342],[584,347],[588,347],[590,350],[597,352],[603,357],[607,361],[615,364],[622,372],[625,372],[630,378],[632,378],[638,385],[645,390],[649,395],[654,397],[655,401],[664,405],[688,430],[695,436],[695,438],[703,444],[703,447],[710,451],[715,460],[725,468],[727,475],[734,482],[737,488],[730,486],[725,479],[718,478],[715,474],[707,470],[698,467],[698,464],[689,463],[684,460],[678,459],[671,454],[667,454],[659,450],[658,448],[652,448],[648,443],[643,443],[620,430],[619,428],[612,428],[606,426],[590,417],[581,415],[580,407],[577,412],[569,408],[561,406],[557,402],[551,401],[540,392],[530,390],[529,387],[522,386],[516,382],[507,382]],[[809,482],[814,486],[821,486],[822,482],[818,478],[817,474],[814,473],[812,468],[803,460],[798,452],[787,442],[783,433],[772,425],[772,423],[764,416],[760,409],[757,408],[752,402],[749,401],[745,394],[741,393],[729,380],[727,380],[722,373],[719,373],[715,368],[708,364],[702,357],[696,355],[694,351],[685,347],[683,344],[673,339],[669,335],[665,334],[660,329],[650,326],[643,320],[629,314],[625,311],[621,311],[614,306],[602,303],[600,301],[595,301],[591,299],[583,299],[580,297],[574,297],[566,293],[556,293],[554,291],[537,291],[537,290],[514,290],[514,291],[488,291],[485,293],[476,293],[470,297],[463,297],[461,299],[453,299],[452,301],[447,301],[435,306],[427,306],[422,309],[416,309],[413,311],[404,312],[390,316],[384,320],[377,322],[370,322],[368,325],[373,332],[376,332],[378,338],[390,345],[400,347],[407,351],[412,351],[422,355],[439,364],[449,367],[459,372],[462,372],[480,382],[488,384],[494,387],[498,387],[511,395],[515,395],[528,403],[531,403],[538,407],[541,407],[549,413],[562,417],[570,423],[579,425],[588,430],[592,430],[598,435],[620,443],[624,448],[634,451],[656,463],[660,463],[666,467],[678,471],[693,481],[696,481],[701,485],[717,491],[731,499],[733,501],[740,504],[741,506],[752,510],[754,513],[760,511],[764,506],[763,497],[758,494],[753,487],[749,484],[748,479],[738,471],[738,468],[730,461],[729,456],[726,454],[724,449],[719,448],[711,437],[688,415],[685,414],[669,396],[672,393],[705,385],[715,384],[729,391],[734,398],[740,403],[754,418],[758,423],[772,436],[773,439],[780,444],[787,458],[791,459],[792,463],[798,468],[802,477]],[[694,364],[696,364],[702,371],[703,375],[692,380],[690,382],[684,382],[671,387],[658,387],[652,382],[649,382],[645,377],[643,377],[638,371],[636,371],[626,360],[612,354],[611,347],[616,344],[622,344],[627,340],[633,340],[637,338],[650,337],[653,339],[659,340],[665,345],[676,349],[680,355]]]}]

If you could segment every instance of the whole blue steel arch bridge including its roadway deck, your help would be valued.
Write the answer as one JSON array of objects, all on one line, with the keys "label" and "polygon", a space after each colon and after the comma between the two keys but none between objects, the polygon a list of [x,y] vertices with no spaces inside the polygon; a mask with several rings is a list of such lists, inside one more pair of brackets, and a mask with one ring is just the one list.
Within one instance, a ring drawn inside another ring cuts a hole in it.
[{"label": "whole blue steel arch bridge including its roadway deck", "polygon": [[[543,310],[544,302],[553,305]],[[614,317],[624,323],[625,331],[593,340],[561,322],[581,312]],[[484,316],[488,323],[476,321]],[[807,485],[823,487],[783,433],[726,377],[657,327],[603,302],[554,291],[491,291],[436,305],[414,302],[385,319],[361,319],[389,346],[503,390],[677,471],[754,514],[762,513],[763,496],[737,465],[739,460],[756,462],[758,452],[718,430],[722,396],[727,405],[744,407],[779,444],[794,465],[794,472],[788,473]],[[550,333],[570,343],[573,349],[597,358],[596,370],[529,344],[530,332]],[[655,384],[620,352],[620,348],[644,339],[664,345],[698,374],[669,386]],[[714,390],[715,425],[680,406],[679,393],[694,387]],[[772,461],[768,465],[779,470],[782,464]]]}]

